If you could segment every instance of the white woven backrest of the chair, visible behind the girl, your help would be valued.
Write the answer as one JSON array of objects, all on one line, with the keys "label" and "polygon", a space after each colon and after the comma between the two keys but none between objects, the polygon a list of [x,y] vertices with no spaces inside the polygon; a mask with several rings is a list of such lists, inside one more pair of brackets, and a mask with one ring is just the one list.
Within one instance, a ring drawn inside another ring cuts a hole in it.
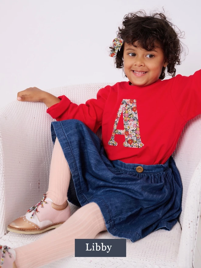
[{"label": "white woven backrest of the chair, visible behind the girl", "polygon": [[[115,83],[89,83],[74,84],[46,90],[55,96],[66,95],[76,104],[85,103],[88,99],[96,98],[99,89],[114,85]],[[101,139],[101,127],[96,132]],[[179,216],[179,223],[182,226],[185,201],[190,180],[193,172],[201,160],[201,115],[189,120],[178,140],[175,151],[172,153],[176,166],[180,172],[183,185],[182,213]]]}]

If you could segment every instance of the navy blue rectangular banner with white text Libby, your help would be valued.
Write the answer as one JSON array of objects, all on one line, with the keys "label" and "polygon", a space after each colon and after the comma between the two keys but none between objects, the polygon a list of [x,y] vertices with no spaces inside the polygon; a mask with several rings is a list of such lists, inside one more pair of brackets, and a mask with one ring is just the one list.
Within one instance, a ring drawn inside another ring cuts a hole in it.
[{"label": "navy blue rectangular banner with white text Libby", "polygon": [[75,257],[126,257],[126,239],[75,239]]}]

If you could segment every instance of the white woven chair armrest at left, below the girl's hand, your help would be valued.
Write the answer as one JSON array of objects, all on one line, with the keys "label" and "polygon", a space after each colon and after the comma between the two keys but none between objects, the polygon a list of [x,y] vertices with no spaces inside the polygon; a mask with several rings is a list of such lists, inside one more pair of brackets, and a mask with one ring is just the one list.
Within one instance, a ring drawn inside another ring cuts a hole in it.
[{"label": "white woven chair armrest at left, below the girl's hand", "polygon": [[46,109],[41,102],[19,101],[0,109],[0,238],[47,191],[55,119]]}]

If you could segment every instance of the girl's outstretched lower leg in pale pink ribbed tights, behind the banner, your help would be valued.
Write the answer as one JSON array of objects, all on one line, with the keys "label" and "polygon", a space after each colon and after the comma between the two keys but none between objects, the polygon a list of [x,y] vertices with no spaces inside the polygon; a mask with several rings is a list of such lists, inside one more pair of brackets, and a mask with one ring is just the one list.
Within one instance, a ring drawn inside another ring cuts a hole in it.
[{"label": "girl's outstretched lower leg in pale pink ribbed tights, behind the banner", "polygon": [[106,231],[99,206],[91,202],[79,208],[58,228],[28,245],[15,248],[17,268],[35,268],[75,254],[75,238],[95,238]]}]

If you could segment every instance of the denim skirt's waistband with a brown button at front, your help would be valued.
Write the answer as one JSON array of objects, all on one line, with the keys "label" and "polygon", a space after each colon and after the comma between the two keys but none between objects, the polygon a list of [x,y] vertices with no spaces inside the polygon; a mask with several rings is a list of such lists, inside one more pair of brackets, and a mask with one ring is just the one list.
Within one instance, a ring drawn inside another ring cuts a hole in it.
[{"label": "denim skirt's waistband with a brown button at front", "polygon": [[[143,165],[143,164],[132,164],[132,163],[124,163],[120,160],[111,160],[111,163],[114,165],[115,168],[123,170],[123,171],[128,171],[128,172],[133,172],[133,173],[156,173],[156,172],[161,172],[164,171],[169,167],[169,160],[172,158],[170,156],[168,160],[164,164],[157,164],[157,165]],[[142,169],[140,168],[143,168]],[[136,170],[137,168],[137,170]]]}]

